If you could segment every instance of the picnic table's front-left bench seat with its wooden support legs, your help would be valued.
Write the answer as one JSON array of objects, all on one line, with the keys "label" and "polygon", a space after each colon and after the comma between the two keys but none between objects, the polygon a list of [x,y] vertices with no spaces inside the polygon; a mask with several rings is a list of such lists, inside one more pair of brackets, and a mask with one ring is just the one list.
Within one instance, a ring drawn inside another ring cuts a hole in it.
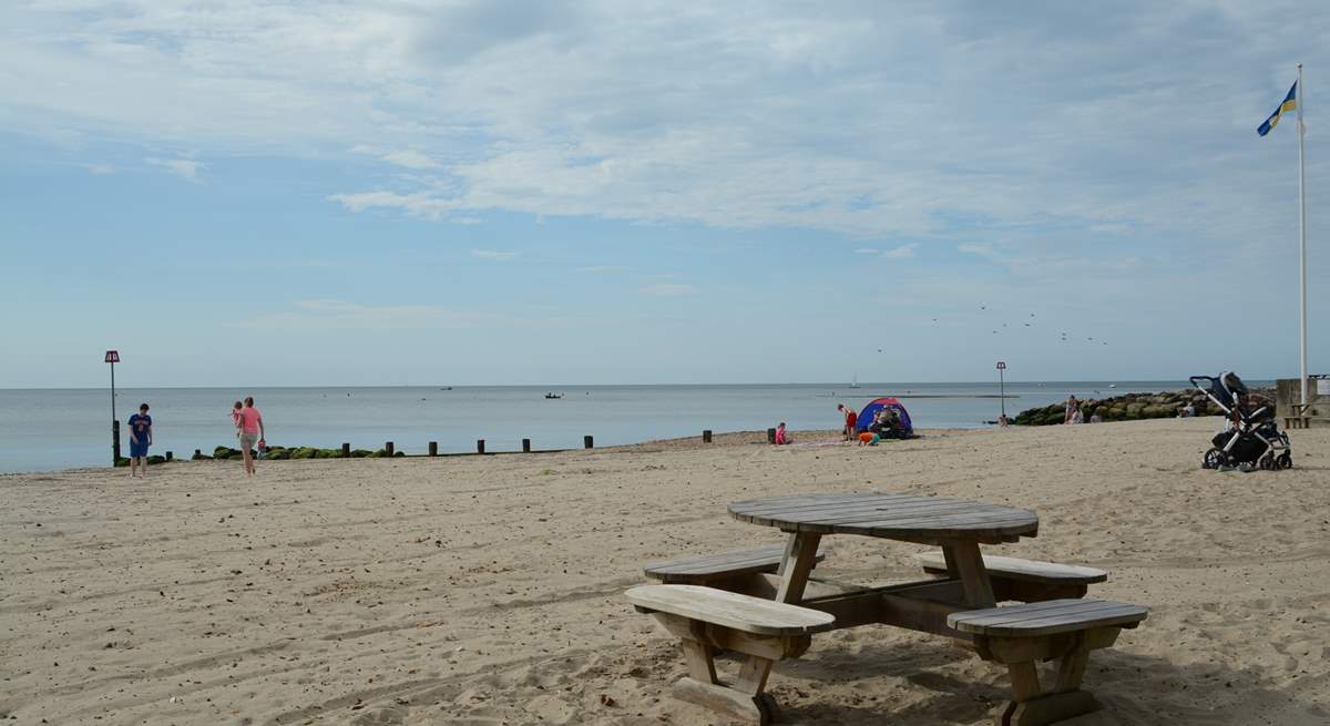
[{"label": "picnic table's front-left bench seat with its wooden support legs", "polygon": [[[700,585],[641,585],[624,594],[682,642],[688,675],[674,683],[674,697],[750,723],[775,717],[763,693],[771,665],[802,656],[813,633],[835,626],[819,610]],[[733,685],[716,674],[717,649],[746,656]]]}]

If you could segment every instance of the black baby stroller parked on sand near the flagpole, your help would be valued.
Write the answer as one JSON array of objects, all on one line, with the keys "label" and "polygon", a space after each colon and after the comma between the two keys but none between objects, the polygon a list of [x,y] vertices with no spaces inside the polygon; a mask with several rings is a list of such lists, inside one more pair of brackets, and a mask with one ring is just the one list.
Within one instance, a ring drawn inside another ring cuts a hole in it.
[{"label": "black baby stroller parked on sand near the flagpole", "polygon": [[1202,468],[1240,464],[1254,464],[1267,471],[1293,468],[1289,435],[1274,423],[1274,407],[1256,396],[1249,398],[1248,387],[1237,374],[1225,372],[1217,378],[1194,375],[1189,380],[1229,419],[1224,431],[1210,439]]}]

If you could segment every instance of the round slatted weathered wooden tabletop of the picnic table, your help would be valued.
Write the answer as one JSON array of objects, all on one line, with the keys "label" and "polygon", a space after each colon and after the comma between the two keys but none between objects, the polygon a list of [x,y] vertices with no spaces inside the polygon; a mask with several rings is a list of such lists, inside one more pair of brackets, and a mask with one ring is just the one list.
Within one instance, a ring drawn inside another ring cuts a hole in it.
[{"label": "round slatted weathered wooden tabletop of the picnic table", "polygon": [[866,535],[915,543],[999,543],[1039,533],[1039,516],[1027,509],[934,496],[794,495],[735,501],[729,509],[739,521],[786,532]]}]

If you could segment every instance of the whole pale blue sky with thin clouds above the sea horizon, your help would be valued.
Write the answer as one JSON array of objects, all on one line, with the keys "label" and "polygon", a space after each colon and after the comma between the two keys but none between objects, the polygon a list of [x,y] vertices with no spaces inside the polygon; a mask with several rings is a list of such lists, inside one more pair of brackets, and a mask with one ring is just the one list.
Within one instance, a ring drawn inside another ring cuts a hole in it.
[{"label": "whole pale blue sky with thin clouds above the sea horizon", "polygon": [[[1330,372],[1330,7],[11,0],[0,387]],[[1322,78],[1326,78],[1322,81]]]}]

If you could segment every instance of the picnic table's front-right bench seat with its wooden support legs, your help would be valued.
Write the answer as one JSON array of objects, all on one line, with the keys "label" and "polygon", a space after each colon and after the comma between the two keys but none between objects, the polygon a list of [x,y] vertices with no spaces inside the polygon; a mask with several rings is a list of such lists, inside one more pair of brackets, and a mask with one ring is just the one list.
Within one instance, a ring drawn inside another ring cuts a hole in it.
[{"label": "picnic table's front-right bench seat with its wooden support legs", "polygon": [[[1044,726],[1099,709],[1080,687],[1089,652],[1109,648],[1124,628],[1149,614],[1140,605],[1108,600],[1049,600],[947,616],[947,625],[974,637],[986,661],[1004,664],[1012,699],[996,714],[999,726]],[[1039,661],[1057,660],[1057,677],[1040,687]]]}]

